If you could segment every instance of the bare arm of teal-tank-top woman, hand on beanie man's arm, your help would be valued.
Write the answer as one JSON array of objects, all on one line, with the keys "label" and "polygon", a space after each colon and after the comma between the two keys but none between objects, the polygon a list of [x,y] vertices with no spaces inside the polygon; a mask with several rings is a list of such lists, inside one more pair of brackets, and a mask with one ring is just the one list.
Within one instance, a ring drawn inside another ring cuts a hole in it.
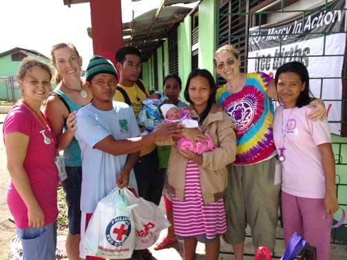
[{"label": "bare arm of teal-tank-top woman, hand on beanie man's arm", "polygon": [[[47,100],[44,113],[58,141],[58,151],[66,149],[72,138],[74,138],[76,112],[72,113],[72,115],[70,114],[71,116],[69,118],[69,111],[67,111],[63,102],[56,96],[50,96]],[[63,133],[66,120],[70,120],[70,122],[67,122],[70,124],[67,125],[67,130]]]}]

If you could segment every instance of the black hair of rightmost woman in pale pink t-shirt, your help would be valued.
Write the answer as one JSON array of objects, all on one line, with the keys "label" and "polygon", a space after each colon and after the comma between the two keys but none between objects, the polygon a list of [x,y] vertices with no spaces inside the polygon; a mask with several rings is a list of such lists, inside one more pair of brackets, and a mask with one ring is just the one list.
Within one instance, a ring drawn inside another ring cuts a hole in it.
[{"label": "black hair of rightmost woman in pale pink t-shirt", "polygon": [[301,82],[305,83],[305,89],[300,92],[295,106],[304,107],[310,104],[313,98],[310,97],[310,76],[308,76],[308,71],[305,65],[303,63],[300,63],[299,61],[291,61],[290,63],[284,63],[284,65],[280,66],[277,69],[276,75],[275,75],[276,89],[277,89],[278,78],[280,77],[280,74],[284,72],[293,72],[297,74]]}]

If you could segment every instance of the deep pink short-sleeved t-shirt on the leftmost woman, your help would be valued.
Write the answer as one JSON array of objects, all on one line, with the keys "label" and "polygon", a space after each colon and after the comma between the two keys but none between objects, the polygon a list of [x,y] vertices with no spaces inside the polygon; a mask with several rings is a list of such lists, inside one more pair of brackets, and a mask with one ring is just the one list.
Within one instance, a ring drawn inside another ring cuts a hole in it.
[{"label": "deep pink short-sleeved t-shirt on the leftmost woman", "polygon": [[[50,138],[50,144],[43,142],[43,134],[40,133],[42,130],[45,130],[45,136]],[[3,122],[3,136],[13,132],[23,133],[30,138],[23,167],[28,174],[34,196],[45,215],[45,225],[51,224],[58,216],[56,189],[59,176],[54,162],[56,139],[50,128],[43,128],[24,105],[12,107]],[[17,228],[28,228],[28,209],[12,180],[8,187],[7,201]]]}]

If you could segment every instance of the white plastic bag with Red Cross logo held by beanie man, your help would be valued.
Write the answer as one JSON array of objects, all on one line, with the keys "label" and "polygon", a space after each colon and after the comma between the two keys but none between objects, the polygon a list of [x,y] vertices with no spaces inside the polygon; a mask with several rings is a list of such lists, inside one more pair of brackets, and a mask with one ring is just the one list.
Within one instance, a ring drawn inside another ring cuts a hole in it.
[{"label": "white plastic bag with Red Cross logo held by beanie man", "polygon": [[90,219],[82,240],[86,254],[105,259],[131,258],[135,239],[132,212],[123,190],[115,188],[101,199]]}]

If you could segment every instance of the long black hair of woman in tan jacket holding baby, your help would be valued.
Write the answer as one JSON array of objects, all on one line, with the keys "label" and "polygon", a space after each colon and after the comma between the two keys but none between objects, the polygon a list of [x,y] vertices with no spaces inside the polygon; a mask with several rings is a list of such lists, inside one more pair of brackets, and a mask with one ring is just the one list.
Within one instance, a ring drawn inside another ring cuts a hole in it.
[{"label": "long black hair of woman in tan jacket holding baby", "polygon": [[207,69],[194,69],[187,78],[187,84],[185,87],[185,100],[187,100],[189,103],[192,103],[190,97],[189,97],[189,85],[192,78],[195,78],[196,76],[204,77],[209,81],[209,86],[211,88],[211,94],[209,96],[209,100],[207,100],[207,107],[200,115],[199,124],[202,124],[204,122],[204,119],[209,114],[209,111],[211,110],[212,105],[215,103],[215,93],[217,92],[217,86],[215,85],[215,80]]}]

